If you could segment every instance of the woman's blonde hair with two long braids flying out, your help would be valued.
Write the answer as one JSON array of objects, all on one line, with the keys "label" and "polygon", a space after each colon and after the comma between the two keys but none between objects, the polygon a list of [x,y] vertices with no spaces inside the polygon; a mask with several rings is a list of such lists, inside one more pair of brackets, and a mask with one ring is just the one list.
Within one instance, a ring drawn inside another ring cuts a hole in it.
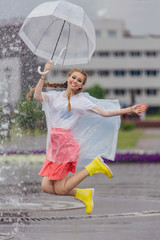
[{"label": "woman's blonde hair with two long braids flying out", "polygon": [[[80,70],[80,69],[77,69],[77,68],[74,68],[72,70],[70,70],[67,74],[67,77],[70,77],[74,72],[79,72],[83,75],[84,79],[83,79],[83,85],[86,83],[87,81],[87,74],[86,72]],[[68,82],[64,82],[64,83],[49,83],[49,82],[46,82],[43,84],[43,87],[50,87],[50,88],[64,88],[66,89],[67,88],[67,85],[68,85]],[[26,98],[27,100],[30,99],[32,93],[34,92],[35,88],[32,88],[29,93],[27,94]],[[77,91],[74,92],[74,94],[78,94],[82,91],[82,89],[78,89]],[[67,110],[68,112],[71,111],[71,103],[70,103],[70,100],[71,100],[71,96],[72,96],[72,90],[69,90],[67,92],[67,99],[68,99],[68,105],[67,105]]]}]

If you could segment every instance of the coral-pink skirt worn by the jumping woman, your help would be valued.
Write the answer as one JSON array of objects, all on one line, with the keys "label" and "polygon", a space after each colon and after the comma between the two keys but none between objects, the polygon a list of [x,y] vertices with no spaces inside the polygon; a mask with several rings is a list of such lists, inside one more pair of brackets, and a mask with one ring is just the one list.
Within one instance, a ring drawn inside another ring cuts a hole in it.
[{"label": "coral-pink skirt worn by the jumping woman", "polygon": [[74,173],[79,150],[79,144],[73,138],[71,130],[52,128],[46,159],[39,176],[60,180],[66,177],[68,172]]}]

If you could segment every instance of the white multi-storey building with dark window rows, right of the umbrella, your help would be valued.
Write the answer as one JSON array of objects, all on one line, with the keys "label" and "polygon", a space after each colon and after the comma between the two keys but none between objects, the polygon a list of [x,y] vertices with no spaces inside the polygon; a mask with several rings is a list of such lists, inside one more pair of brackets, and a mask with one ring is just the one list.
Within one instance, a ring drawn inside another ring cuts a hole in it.
[{"label": "white multi-storey building with dark window rows, right of the umbrella", "polygon": [[[131,36],[121,21],[96,21],[92,64],[109,98],[160,106],[160,36]],[[94,80],[93,80],[94,81]]]}]

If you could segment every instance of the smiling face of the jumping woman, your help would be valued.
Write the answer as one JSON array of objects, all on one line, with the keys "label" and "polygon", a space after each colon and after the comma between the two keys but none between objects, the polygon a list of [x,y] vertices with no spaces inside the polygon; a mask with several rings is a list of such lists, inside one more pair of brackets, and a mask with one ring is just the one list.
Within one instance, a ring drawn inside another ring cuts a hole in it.
[{"label": "smiling face of the jumping woman", "polygon": [[84,76],[80,72],[73,72],[67,79],[68,81],[68,89],[72,89],[73,91],[77,91],[79,88],[81,89],[84,84]]}]

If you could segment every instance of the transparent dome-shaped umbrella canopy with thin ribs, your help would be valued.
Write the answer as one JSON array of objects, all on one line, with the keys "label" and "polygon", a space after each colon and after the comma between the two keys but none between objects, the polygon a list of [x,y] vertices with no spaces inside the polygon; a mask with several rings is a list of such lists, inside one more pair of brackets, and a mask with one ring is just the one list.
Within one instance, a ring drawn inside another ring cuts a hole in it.
[{"label": "transparent dome-shaped umbrella canopy with thin ribs", "polygon": [[91,20],[81,7],[67,1],[36,7],[19,36],[35,55],[60,65],[88,63],[96,46]]}]

